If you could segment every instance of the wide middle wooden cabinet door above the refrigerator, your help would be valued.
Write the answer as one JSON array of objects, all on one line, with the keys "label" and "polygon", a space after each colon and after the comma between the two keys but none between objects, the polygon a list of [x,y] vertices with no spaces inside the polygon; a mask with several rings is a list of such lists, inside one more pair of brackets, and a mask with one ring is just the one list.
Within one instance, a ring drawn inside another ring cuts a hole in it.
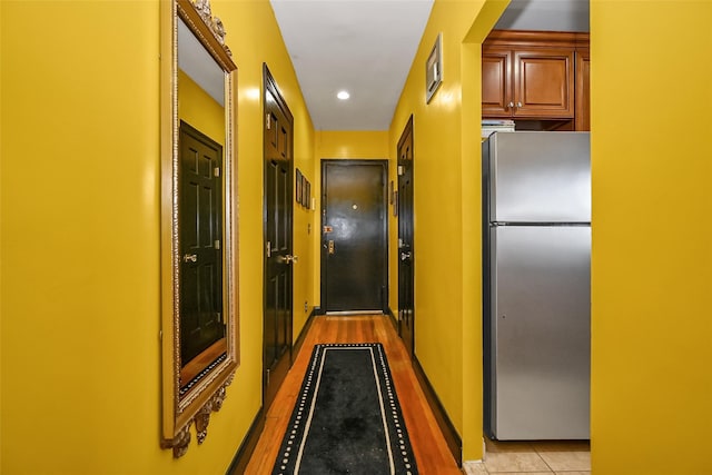
[{"label": "wide middle wooden cabinet door above the refrigerator", "polygon": [[514,52],[514,117],[574,117],[573,50]]}]

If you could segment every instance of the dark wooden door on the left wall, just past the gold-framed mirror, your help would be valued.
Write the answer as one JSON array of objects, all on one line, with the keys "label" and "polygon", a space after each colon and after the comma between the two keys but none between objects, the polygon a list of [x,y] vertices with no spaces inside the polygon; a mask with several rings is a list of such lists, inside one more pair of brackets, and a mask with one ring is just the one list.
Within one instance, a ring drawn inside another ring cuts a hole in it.
[{"label": "dark wooden door on the left wall, just past the gold-framed mirror", "polygon": [[265,67],[265,315],[264,388],[267,408],[291,364],[293,118]]}]

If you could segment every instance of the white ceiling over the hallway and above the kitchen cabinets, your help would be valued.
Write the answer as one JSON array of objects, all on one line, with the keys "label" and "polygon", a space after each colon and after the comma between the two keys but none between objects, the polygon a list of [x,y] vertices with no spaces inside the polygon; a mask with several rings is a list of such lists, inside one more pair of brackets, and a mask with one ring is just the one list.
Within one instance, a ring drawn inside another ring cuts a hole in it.
[{"label": "white ceiling over the hallway and above the kitchen cabinets", "polygon": [[[432,0],[270,2],[315,129],[387,130]],[[496,28],[587,31],[589,0],[512,0]]]}]

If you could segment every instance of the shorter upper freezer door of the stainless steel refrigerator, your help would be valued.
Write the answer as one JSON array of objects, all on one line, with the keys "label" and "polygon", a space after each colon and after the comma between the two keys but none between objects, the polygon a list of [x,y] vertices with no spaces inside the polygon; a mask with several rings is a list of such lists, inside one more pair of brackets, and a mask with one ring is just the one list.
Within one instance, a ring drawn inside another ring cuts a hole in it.
[{"label": "shorter upper freezer door of the stainless steel refrigerator", "polygon": [[589,132],[497,132],[490,141],[492,221],[591,221]]}]

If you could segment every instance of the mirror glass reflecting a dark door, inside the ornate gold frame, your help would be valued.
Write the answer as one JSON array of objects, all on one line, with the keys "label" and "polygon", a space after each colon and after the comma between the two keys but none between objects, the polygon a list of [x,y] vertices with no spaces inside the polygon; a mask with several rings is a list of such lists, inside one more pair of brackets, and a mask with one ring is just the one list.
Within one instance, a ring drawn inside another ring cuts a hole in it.
[{"label": "mirror glass reflecting a dark door, inside the ornate gold frame", "polygon": [[225,71],[179,20],[178,288],[184,394],[227,352]]}]

